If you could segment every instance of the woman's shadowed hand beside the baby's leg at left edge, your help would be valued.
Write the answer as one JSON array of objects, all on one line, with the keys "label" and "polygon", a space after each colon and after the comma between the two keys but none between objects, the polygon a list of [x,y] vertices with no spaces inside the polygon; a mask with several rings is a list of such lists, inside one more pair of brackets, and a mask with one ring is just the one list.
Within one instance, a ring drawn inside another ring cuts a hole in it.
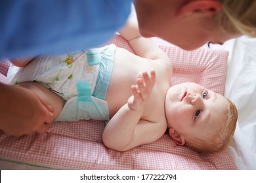
[{"label": "woman's shadowed hand beside the baby's leg at left edge", "polygon": [[44,133],[54,121],[54,108],[37,93],[17,86],[0,84],[0,129],[9,135]]}]

